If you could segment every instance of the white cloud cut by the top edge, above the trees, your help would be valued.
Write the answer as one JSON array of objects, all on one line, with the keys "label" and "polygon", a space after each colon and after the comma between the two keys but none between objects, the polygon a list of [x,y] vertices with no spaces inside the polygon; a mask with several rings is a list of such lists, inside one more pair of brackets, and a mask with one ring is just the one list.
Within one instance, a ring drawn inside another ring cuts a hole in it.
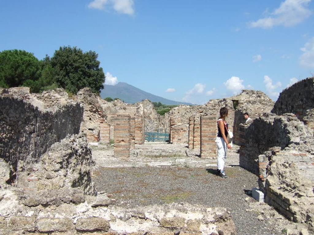
[{"label": "white cloud cut by the top edge, above the trees", "polygon": [[94,0],[88,7],[103,10],[106,5],[111,5],[118,13],[134,14],[133,0]]}]

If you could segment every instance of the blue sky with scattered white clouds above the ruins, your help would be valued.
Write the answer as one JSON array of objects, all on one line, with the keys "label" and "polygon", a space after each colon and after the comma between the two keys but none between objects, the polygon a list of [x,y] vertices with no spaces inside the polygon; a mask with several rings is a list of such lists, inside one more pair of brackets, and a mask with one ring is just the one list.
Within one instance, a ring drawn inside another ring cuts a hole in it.
[{"label": "blue sky with scattered white clouds above the ruins", "polygon": [[106,83],[203,104],[314,74],[311,0],[0,1],[0,51],[60,46],[99,55]]}]

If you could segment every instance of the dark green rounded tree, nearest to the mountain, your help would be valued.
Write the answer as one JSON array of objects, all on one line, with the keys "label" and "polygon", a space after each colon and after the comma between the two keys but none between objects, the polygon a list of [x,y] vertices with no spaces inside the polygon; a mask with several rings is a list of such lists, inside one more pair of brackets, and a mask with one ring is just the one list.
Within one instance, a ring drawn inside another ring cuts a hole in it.
[{"label": "dark green rounded tree, nearest to the mountain", "polygon": [[59,87],[74,94],[84,87],[99,93],[104,88],[105,74],[99,67],[97,57],[94,51],[83,53],[76,47],[60,47],[50,59],[54,81]]}]

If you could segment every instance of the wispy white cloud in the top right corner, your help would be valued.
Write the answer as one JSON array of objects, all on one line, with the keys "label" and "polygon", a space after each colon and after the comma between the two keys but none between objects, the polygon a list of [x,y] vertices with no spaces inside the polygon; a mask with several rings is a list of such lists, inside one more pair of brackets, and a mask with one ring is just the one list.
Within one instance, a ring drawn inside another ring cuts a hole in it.
[{"label": "wispy white cloud in the top right corner", "polygon": [[[311,0],[285,0],[275,9],[270,16],[250,22],[250,28],[272,28],[273,26],[283,25],[291,27],[311,15],[311,10],[307,8]],[[268,15],[268,13],[266,12]]]}]

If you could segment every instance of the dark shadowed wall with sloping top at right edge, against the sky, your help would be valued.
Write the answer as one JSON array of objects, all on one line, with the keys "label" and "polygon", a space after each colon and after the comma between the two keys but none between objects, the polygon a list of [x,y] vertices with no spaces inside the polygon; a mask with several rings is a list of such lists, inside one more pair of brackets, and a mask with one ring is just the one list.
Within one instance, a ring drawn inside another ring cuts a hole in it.
[{"label": "dark shadowed wall with sloping top at right edge, against the sky", "polygon": [[276,101],[272,113],[293,113],[303,121],[307,110],[314,108],[314,77],[301,80],[284,89]]}]

